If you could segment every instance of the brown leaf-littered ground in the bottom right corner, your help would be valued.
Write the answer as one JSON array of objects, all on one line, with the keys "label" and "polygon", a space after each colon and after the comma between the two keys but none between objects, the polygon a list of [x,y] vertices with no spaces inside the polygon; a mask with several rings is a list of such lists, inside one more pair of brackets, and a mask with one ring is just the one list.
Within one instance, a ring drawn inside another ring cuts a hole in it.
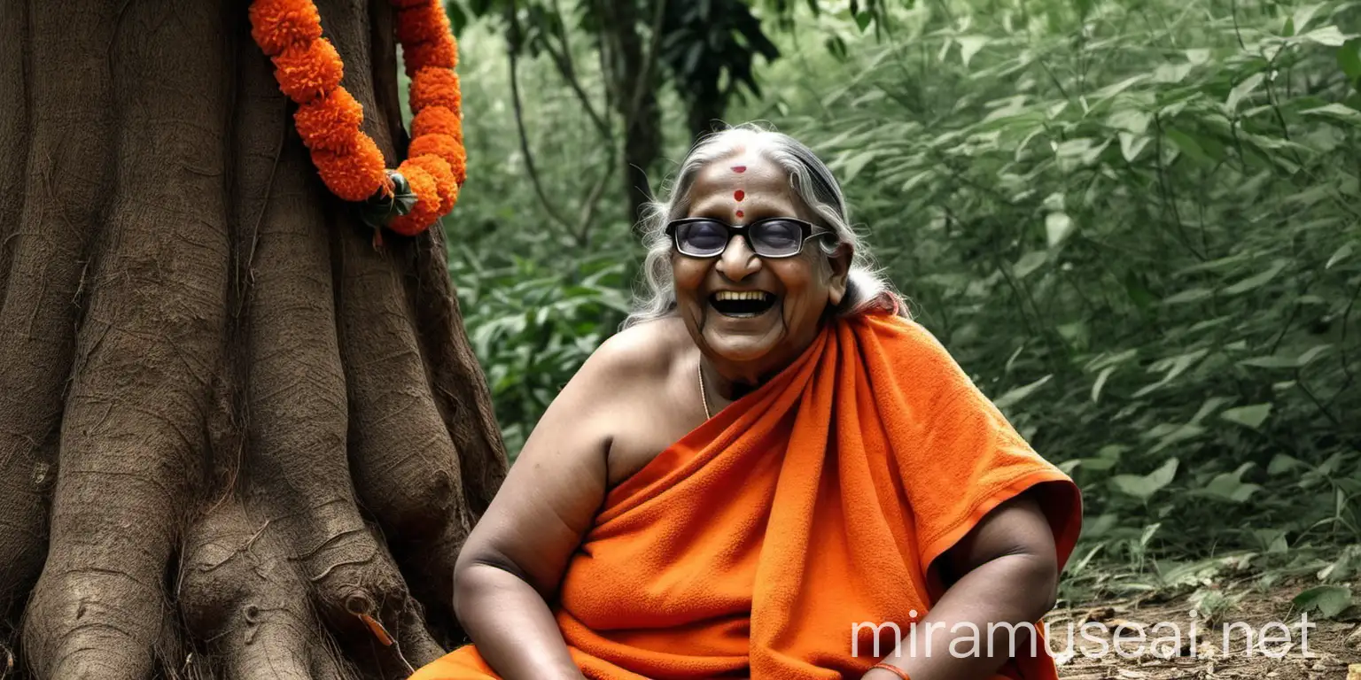
[{"label": "brown leaf-littered ground in the bottom right corner", "polygon": [[1302,615],[1292,600],[1305,588],[1237,589],[1241,600],[1213,619],[1185,594],[1059,608],[1049,649],[1062,680],[1361,680],[1361,608]]}]

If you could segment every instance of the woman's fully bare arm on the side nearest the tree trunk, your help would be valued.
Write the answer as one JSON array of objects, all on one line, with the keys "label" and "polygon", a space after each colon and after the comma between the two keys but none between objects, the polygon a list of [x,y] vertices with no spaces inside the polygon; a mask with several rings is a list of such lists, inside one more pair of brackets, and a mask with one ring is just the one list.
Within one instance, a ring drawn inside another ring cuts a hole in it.
[{"label": "woman's fully bare arm on the side nearest the tree trunk", "polygon": [[644,366],[611,339],[554,398],[455,566],[455,612],[498,675],[580,679],[548,601],[604,500],[614,408]]}]

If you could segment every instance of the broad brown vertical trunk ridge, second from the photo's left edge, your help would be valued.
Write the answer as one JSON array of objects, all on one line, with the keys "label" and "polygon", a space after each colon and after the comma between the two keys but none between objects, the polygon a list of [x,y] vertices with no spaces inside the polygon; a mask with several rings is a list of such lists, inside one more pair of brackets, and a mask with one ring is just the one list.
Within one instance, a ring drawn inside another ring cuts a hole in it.
[{"label": "broad brown vertical trunk ridge, second from the photo's left edge", "polygon": [[[220,180],[185,169],[225,166],[212,141],[226,136],[218,116],[226,92],[201,84],[222,83],[226,64],[220,52],[189,58],[189,45],[155,34],[212,45],[215,18],[186,10],[171,27],[154,22],[154,7],[125,11],[124,20],[148,31],[112,48],[122,148],[76,336],[48,563],[24,626],[39,677],[140,679],[155,669],[166,564],[201,469],[199,423],[222,363],[225,197]],[[178,68],[136,78],[165,63]],[[151,101],[182,118],[159,120]]]}]

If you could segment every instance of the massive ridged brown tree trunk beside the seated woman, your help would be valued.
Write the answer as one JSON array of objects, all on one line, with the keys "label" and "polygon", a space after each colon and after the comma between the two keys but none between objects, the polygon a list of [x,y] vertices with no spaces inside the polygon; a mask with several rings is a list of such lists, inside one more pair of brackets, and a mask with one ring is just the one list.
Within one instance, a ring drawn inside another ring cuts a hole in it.
[{"label": "massive ridged brown tree trunk beside the seated woman", "polygon": [[[396,166],[388,3],[317,5]],[[0,676],[404,677],[461,641],[506,458],[442,238],[373,248],[291,112],[241,0],[0,3]]]}]

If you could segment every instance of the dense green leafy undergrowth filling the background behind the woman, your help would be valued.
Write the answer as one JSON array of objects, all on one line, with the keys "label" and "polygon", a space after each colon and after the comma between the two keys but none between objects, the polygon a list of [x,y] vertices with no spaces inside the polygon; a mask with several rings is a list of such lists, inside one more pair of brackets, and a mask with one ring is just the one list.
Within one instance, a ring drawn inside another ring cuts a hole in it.
[{"label": "dense green leafy undergrowth filling the background behind the woman", "polygon": [[[1356,3],[749,4],[784,57],[728,120],[830,162],[917,318],[1078,480],[1083,588],[1361,568],[1337,556],[1361,541]],[[450,267],[519,442],[622,318],[640,253],[622,220],[585,243],[543,226],[504,80],[479,78]],[[587,121],[554,82],[525,118],[572,211],[607,155],[561,133]],[[683,109],[663,103],[670,140]],[[1113,559],[1143,574],[1092,568]]]}]

